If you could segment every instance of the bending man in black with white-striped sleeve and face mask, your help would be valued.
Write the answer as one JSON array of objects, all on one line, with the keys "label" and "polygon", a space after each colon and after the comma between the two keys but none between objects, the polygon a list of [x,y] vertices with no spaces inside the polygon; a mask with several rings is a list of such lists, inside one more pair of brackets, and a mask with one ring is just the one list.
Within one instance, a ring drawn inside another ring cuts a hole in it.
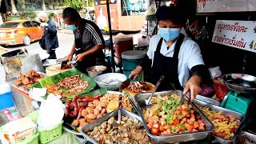
[{"label": "bending man in black with white-striped sleeve and face mask", "polygon": [[70,7],[63,10],[62,18],[68,25],[67,28],[74,31],[74,45],[66,58],[70,61],[75,54],[77,68],[84,74],[90,66],[105,65],[105,55],[102,51],[105,42],[98,26],[81,18],[78,12]]}]

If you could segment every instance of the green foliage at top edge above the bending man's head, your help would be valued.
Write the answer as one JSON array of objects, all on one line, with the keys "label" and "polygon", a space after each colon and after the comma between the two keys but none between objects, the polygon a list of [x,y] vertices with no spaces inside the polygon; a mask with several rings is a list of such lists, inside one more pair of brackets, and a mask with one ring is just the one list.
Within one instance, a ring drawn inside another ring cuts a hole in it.
[{"label": "green foliage at top edge above the bending man's head", "polygon": [[[64,5],[75,10],[82,10],[86,7],[87,0],[64,0]],[[88,0],[89,6],[94,6],[94,0]]]}]

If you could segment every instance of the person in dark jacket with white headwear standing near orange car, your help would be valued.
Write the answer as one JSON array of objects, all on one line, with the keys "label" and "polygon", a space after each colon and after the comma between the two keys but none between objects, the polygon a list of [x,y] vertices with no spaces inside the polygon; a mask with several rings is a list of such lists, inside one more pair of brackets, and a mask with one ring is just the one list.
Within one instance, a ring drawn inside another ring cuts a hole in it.
[{"label": "person in dark jacket with white headwear standing near orange car", "polygon": [[42,49],[47,50],[47,54],[50,54],[48,59],[56,59],[55,49],[58,48],[58,36],[57,36],[57,27],[54,22],[51,22],[48,18],[46,12],[40,12],[38,14],[41,25],[44,28],[44,34],[42,36],[43,44]]}]

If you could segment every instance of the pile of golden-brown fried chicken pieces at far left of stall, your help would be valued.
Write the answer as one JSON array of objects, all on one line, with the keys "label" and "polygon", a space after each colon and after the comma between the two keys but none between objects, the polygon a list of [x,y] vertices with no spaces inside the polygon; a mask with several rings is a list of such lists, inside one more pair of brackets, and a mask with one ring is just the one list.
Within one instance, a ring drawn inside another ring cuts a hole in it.
[{"label": "pile of golden-brown fried chicken pieces at far left of stall", "polygon": [[38,79],[44,78],[41,74],[38,74],[35,70],[30,70],[25,75],[22,75],[21,72],[18,73],[18,80],[15,81],[15,85],[23,85],[25,90],[29,90],[30,86],[38,82]]}]

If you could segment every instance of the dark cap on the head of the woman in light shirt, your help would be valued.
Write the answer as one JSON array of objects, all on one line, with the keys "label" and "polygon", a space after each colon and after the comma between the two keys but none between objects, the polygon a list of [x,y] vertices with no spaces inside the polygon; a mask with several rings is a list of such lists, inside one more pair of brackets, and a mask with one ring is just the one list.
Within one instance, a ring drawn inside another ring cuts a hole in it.
[{"label": "dark cap on the head of the woman in light shirt", "polygon": [[186,15],[179,6],[160,6],[156,12],[158,21],[162,19],[170,19],[175,24],[184,25],[186,23]]}]

